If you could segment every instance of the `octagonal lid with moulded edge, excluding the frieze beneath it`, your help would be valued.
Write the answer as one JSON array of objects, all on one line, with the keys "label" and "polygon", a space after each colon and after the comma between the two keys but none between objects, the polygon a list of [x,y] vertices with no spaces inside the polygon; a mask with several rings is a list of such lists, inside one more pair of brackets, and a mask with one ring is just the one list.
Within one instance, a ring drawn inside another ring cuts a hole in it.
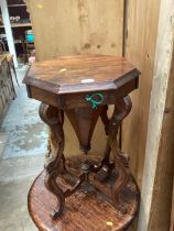
[{"label": "octagonal lid with moulded edge, excluding the frieze beneath it", "polygon": [[26,74],[24,84],[55,94],[70,94],[117,89],[122,78],[127,82],[138,76],[137,68],[122,57],[74,55],[36,62]]}]

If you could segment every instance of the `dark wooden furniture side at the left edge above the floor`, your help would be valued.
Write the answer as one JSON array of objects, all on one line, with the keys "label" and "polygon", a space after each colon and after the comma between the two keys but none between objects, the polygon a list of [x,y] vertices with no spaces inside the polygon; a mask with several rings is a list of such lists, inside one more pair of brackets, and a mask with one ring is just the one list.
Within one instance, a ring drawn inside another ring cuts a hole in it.
[{"label": "dark wooden furniture side at the left edge above the floor", "polygon": [[0,123],[2,122],[9,105],[15,98],[15,90],[9,63],[6,55],[0,55]]}]

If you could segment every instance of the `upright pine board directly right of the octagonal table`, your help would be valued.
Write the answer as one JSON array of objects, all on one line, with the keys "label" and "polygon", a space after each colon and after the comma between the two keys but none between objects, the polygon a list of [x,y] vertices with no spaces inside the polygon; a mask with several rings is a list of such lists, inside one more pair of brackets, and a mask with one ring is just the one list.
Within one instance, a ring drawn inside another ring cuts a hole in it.
[{"label": "upright pine board directly right of the octagonal table", "polygon": [[133,107],[123,123],[122,146],[123,151],[130,155],[131,170],[141,186],[160,0],[129,0],[127,2],[124,53],[142,75],[138,91],[131,95]]}]

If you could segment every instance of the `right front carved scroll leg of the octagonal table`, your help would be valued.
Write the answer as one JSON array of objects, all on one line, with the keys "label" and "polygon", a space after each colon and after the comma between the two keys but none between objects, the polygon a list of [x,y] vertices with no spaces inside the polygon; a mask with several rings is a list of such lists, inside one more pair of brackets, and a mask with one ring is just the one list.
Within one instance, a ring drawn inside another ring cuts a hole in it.
[{"label": "right front carved scroll leg of the octagonal table", "polygon": [[130,97],[119,99],[115,105],[115,111],[109,122],[109,138],[108,142],[113,152],[115,168],[118,172],[118,178],[112,186],[112,201],[113,205],[122,212],[126,212],[126,208],[119,201],[119,193],[127,185],[130,172],[128,157],[120,151],[117,134],[118,129],[122,120],[129,114],[132,103]]}]

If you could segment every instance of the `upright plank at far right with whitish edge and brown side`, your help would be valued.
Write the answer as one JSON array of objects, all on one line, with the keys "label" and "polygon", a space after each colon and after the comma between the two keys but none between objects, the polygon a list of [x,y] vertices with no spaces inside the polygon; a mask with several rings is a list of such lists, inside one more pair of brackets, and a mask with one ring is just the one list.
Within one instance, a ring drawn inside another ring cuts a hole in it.
[{"label": "upright plank at far right with whitish edge and brown side", "polygon": [[168,231],[174,175],[174,4],[161,0],[138,230]]}]

